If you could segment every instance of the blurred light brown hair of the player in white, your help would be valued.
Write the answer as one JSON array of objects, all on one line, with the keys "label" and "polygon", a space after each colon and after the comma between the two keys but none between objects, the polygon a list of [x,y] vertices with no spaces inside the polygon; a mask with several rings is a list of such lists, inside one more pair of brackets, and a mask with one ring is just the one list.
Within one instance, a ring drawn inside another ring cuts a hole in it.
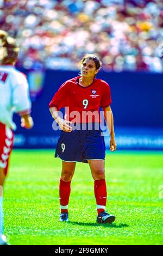
[{"label": "blurred light brown hair of the player in white", "polygon": [[16,62],[19,48],[14,38],[0,30],[0,63],[12,64]]}]

